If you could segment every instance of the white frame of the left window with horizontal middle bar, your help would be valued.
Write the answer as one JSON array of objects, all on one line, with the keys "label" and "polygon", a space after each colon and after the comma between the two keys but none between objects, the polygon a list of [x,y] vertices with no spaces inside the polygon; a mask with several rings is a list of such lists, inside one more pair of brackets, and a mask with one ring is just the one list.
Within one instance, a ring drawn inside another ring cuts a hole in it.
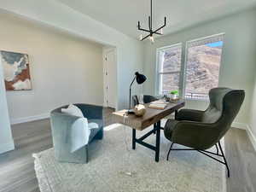
[{"label": "white frame of the left window with horizontal middle bar", "polygon": [[[183,43],[177,43],[177,44],[171,44],[168,46],[164,46],[164,47],[160,47],[156,49],[156,67],[155,67],[155,88],[154,89],[154,94],[155,96],[163,96],[163,94],[160,94],[160,75],[161,74],[174,74],[174,73],[179,73],[179,79],[181,79],[181,75],[182,75],[182,66],[183,66],[183,59],[182,59],[182,53],[181,53],[181,67],[180,67],[180,71],[178,72],[166,72],[166,73],[160,73],[160,51],[164,50],[164,49],[170,49],[173,47],[177,47],[180,46],[181,47],[181,51],[183,52]],[[179,84],[178,84],[178,89],[181,90],[181,81],[179,80]]]}]

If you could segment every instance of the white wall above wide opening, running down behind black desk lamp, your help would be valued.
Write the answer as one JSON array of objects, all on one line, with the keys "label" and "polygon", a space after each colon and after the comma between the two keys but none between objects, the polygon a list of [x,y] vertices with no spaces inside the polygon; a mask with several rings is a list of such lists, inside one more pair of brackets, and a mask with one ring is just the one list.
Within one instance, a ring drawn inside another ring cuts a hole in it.
[{"label": "white wall above wide opening, running down behind black desk lamp", "polygon": [[[113,28],[53,0],[3,0],[0,9],[117,48],[117,108],[127,108],[129,84],[143,70],[143,44]],[[135,28],[136,30],[136,28]],[[124,75],[125,74],[125,75]]]}]

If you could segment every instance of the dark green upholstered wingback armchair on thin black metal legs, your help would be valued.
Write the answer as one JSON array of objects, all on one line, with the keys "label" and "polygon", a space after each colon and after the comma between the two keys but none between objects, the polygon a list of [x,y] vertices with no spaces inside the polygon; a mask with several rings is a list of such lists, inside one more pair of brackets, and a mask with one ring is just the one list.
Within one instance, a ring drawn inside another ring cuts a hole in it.
[{"label": "dark green upholstered wingback armchair on thin black metal legs", "polygon": [[[244,90],[214,88],[209,91],[210,105],[206,111],[181,109],[175,119],[168,119],[165,125],[165,136],[172,145],[167,154],[167,160],[171,150],[183,150],[172,148],[174,143],[191,148],[186,150],[197,150],[207,156],[214,153],[206,149],[215,145],[217,153],[214,155],[223,158],[224,161],[221,163],[227,167],[228,177],[230,177],[230,169],[219,141],[230,129],[244,97]],[[221,154],[218,153],[218,149]]]}]

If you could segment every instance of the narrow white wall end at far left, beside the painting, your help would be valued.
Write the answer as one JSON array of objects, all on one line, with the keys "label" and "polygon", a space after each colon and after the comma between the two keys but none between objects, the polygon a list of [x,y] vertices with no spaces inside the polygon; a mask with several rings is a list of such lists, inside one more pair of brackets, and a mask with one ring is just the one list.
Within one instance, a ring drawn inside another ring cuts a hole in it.
[{"label": "narrow white wall end at far left, beside the painting", "polygon": [[0,56],[0,154],[15,148],[9,125],[9,114],[3,82],[3,67]]}]

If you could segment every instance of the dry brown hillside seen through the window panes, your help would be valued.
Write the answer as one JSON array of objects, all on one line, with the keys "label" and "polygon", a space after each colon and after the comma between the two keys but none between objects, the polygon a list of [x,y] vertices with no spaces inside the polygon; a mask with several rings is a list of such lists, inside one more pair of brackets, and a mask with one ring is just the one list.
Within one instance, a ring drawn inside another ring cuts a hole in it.
[{"label": "dry brown hillside seen through the window panes", "polygon": [[[218,86],[219,63],[221,59],[220,47],[201,45],[189,48],[187,63],[186,94],[205,95],[208,90]],[[166,51],[164,71],[180,71],[180,50]],[[163,90],[177,90],[179,73],[163,76]]]}]

